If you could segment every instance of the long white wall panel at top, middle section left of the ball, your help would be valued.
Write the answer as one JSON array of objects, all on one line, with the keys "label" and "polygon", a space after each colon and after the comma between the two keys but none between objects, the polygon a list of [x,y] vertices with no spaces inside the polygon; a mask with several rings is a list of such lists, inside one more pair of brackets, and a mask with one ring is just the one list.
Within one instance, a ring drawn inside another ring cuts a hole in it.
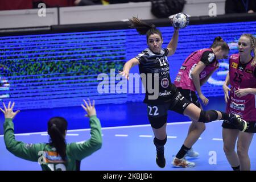
[{"label": "long white wall panel at top, middle section left of the ball", "polygon": [[132,16],[155,19],[150,9],[151,2],[63,7],[60,9],[60,24],[115,22]]}]

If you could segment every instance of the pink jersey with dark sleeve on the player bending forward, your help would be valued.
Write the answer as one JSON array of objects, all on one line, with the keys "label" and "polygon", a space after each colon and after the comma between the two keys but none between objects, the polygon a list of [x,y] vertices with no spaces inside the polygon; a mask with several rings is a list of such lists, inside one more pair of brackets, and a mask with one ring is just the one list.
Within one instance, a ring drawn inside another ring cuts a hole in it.
[{"label": "pink jersey with dark sleeve on the player bending forward", "polygon": [[196,91],[195,85],[191,77],[191,73],[193,69],[195,69],[199,61],[202,61],[206,65],[204,70],[199,75],[200,80],[209,75],[209,73],[214,68],[216,68],[216,65],[218,63],[212,49],[210,48],[200,49],[199,51],[191,53],[191,55],[189,55],[187,59],[185,59],[184,63],[179,69],[179,72],[177,73],[176,79],[174,81],[174,84],[177,87],[192,90],[194,92]]}]

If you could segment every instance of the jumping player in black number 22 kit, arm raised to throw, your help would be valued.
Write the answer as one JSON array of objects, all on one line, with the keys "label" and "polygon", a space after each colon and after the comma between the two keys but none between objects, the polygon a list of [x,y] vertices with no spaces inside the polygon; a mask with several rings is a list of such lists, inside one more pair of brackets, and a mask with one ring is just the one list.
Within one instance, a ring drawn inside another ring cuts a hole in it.
[{"label": "jumping player in black number 22 kit, arm raised to throw", "polygon": [[[194,121],[211,122],[216,119],[226,119],[232,122],[241,131],[245,129],[246,122],[238,115],[222,113],[216,110],[203,111],[191,101],[184,98],[174,84],[171,83],[170,74],[167,73],[169,63],[167,56],[175,53],[177,47],[177,39],[179,29],[175,28],[174,35],[167,48],[162,48],[163,38],[162,33],[155,28],[154,24],[147,24],[138,18],[130,19],[131,27],[136,28],[139,34],[147,35],[148,48],[144,49],[138,56],[127,61],[120,72],[122,76],[129,79],[131,67],[139,65],[141,76],[144,74],[146,78],[142,78],[144,88],[146,90],[144,103],[147,104],[147,115],[154,132],[154,144],[156,146],[156,164],[159,167],[166,165],[164,158],[164,144],[167,141],[166,123],[167,111],[174,110],[177,113],[187,115]],[[164,71],[164,72],[163,72]],[[161,73],[162,72],[162,73]],[[155,84],[157,83],[157,84]],[[149,89],[148,85],[156,85],[155,90],[158,94]],[[177,166],[193,166],[193,163],[187,160],[175,160]]]}]

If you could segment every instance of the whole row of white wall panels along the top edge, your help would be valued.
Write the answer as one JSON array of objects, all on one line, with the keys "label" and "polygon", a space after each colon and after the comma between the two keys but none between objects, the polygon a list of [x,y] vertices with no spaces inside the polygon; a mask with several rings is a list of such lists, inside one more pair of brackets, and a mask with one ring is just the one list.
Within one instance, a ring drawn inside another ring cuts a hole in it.
[{"label": "whole row of white wall panels along the top edge", "polygon": [[[217,15],[225,13],[225,0],[187,0],[183,12],[191,16],[208,15],[208,5],[212,2],[217,5]],[[47,8],[46,17],[39,17],[38,10],[0,11],[0,28],[58,24],[56,8]],[[61,7],[59,11],[60,24],[115,22],[129,19],[132,16],[138,16],[141,19],[155,19],[155,16],[151,14],[151,2]]]}]

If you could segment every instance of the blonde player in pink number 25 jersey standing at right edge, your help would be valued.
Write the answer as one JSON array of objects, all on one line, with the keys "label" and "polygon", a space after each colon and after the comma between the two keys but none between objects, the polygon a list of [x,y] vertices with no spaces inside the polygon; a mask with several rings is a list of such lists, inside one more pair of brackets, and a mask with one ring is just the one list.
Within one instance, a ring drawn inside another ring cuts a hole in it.
[{"label": "blonde player in pink number 25 jersey standing at right edge", "polygon": [[[239,53],[229,59],[229,73],[223,90],[226,111],[239,114],[247,122],[247,129],[241,133],[228,121],[222,123],[224,152],[229,164],[235,171],[250,170],[248,150],[256,133],[256,38],[243,34],[238,40]],[[254,52],[254,57],[251,56]],[[230,88],[228,87],[230,84]],[[230,91],[230,93],[229,93]],[[238,138],[238,140],[237,140]],[[237,152],[234,150],[237,141]]]}]

